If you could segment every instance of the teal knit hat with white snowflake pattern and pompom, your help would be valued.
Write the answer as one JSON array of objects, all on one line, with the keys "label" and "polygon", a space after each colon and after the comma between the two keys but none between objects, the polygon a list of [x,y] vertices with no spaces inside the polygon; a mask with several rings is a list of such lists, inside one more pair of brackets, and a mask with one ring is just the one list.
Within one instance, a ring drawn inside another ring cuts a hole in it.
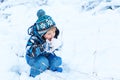
[{"label": "teal knit hat with white snowflake pattern and pompom", "polygon": [[43,9],[37,11],[38,20],[36,21],[37,31],[40,35],[45,34],[52,26],[55,25],[52,17],[46,15]]}]

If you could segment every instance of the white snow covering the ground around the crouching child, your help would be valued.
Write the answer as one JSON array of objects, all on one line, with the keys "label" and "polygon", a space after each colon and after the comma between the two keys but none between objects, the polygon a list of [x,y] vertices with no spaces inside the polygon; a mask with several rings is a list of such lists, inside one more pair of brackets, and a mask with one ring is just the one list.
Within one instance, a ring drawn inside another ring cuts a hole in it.
[{"label": "white snow covering the ground around the crouching child", "polygon": [[[105,6],[101,3],[91,11],[83,11],[79,0],[48,0],[43,6],[37,2],[6,0],[0,4],[2,80],[120,80],[120,8],[101,10]],[[64,71],[47,70],[32,78],[24,58],[27,29],[34,24],[41,8],[52,16],[61,31]]]}]

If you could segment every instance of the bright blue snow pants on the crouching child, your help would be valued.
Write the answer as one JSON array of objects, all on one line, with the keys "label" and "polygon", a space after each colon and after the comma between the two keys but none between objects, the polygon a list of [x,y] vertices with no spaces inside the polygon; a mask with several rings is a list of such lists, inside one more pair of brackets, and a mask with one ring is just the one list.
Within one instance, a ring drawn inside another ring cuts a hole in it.
[{"label": "bright blue snow pants on the crouching child", "polygon": [[31,66],[30,76],[32,77],[39,75],[47,69],[62,72],[62,68],[59,67],[62,64],[62,59],[51,53],[48,55],[40,55],[35,58],[26,55],[26,60]]}]

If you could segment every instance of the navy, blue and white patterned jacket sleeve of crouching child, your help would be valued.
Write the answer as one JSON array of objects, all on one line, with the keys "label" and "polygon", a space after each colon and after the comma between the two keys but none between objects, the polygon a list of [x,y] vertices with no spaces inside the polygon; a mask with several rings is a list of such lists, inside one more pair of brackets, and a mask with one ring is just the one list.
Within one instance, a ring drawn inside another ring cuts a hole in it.
[{"label": "navy, blue and white patterned jacket sleeve of crouching child", "polygon": [[35,36],[31,36],[26,45],[26,54],[30,57],[37,57],[44,52],[44,47]]}]

